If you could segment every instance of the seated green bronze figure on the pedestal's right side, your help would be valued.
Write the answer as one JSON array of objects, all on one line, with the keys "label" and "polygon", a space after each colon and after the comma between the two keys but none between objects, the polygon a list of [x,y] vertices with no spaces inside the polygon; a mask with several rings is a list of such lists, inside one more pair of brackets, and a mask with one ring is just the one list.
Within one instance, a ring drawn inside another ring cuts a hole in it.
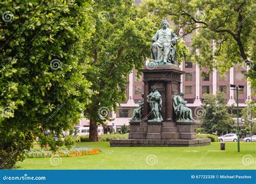
[{"label": "seated green bronze figure on the pedestal's right side", "polygon": [[184,92],[173,97],[173,110],[176,121],[194,121],[192,110],[187,108],[187,101],[184,101]]}]

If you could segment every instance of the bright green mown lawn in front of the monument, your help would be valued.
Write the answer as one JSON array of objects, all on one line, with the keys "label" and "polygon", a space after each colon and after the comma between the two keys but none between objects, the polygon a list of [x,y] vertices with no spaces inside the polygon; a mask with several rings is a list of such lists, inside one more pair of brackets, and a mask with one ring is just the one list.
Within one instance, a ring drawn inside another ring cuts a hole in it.
[{"label": "bright green mown lawn in front of the monument", "polygon": [[201,147],[109,145],[109,142],[78,143],[77,146],[91,146],[102,152],[62,158],[56,166],[50,164],[50,158],[25,159],[17,166],[21,169],[256,169],[256,143],[241,142],[240,153],[237,152],[237,143],[226,143],[226,151],[220,151],[220,143]]}]

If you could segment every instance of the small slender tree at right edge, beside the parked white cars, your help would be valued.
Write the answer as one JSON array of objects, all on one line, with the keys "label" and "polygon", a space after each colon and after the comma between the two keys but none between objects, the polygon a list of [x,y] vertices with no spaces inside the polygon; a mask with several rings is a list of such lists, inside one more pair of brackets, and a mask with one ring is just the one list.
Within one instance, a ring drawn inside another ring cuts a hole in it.
[{"label": "small slender tree at right edge, beside the parked white cars", "polygon": [[252,141],[253,132],[256,127],[256,108],[254,102],[247,102],[246,107],[242,109],[241,114],[242,119],[244,119],[246,128],[250,129],[250,136]]}]

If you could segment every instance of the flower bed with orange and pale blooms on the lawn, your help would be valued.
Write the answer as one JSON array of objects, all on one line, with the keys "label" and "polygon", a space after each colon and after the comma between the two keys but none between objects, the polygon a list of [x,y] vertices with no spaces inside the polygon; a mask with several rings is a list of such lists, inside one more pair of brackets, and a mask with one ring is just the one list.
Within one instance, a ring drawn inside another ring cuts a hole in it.
[{"label": "flower bed with orange and pale blooms on the lawn", "polygon": [[26,151],[26,158],[48,158],[52,155],[59,155],[59,157],[80,157],[84,155],[99,154],[99,149],[92,149],[90,147],[72,147],[70,150],[67,148],[60,148],[58,151],[53,152],[50,150],[30,150]]}]

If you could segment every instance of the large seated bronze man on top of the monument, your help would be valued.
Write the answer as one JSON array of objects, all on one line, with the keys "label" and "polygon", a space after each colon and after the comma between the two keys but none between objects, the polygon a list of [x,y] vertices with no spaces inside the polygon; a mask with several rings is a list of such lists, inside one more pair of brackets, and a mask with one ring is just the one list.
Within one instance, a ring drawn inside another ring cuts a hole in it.
[{"label": "large seated bronze man on top of the monument", "polygon": [[175,64],[176,49],[178,37],[173,30],[168,28],[168,22],[162,21],[163,28],[158,30],[152,38],[151,58],[153,62],[164,62]]}]

